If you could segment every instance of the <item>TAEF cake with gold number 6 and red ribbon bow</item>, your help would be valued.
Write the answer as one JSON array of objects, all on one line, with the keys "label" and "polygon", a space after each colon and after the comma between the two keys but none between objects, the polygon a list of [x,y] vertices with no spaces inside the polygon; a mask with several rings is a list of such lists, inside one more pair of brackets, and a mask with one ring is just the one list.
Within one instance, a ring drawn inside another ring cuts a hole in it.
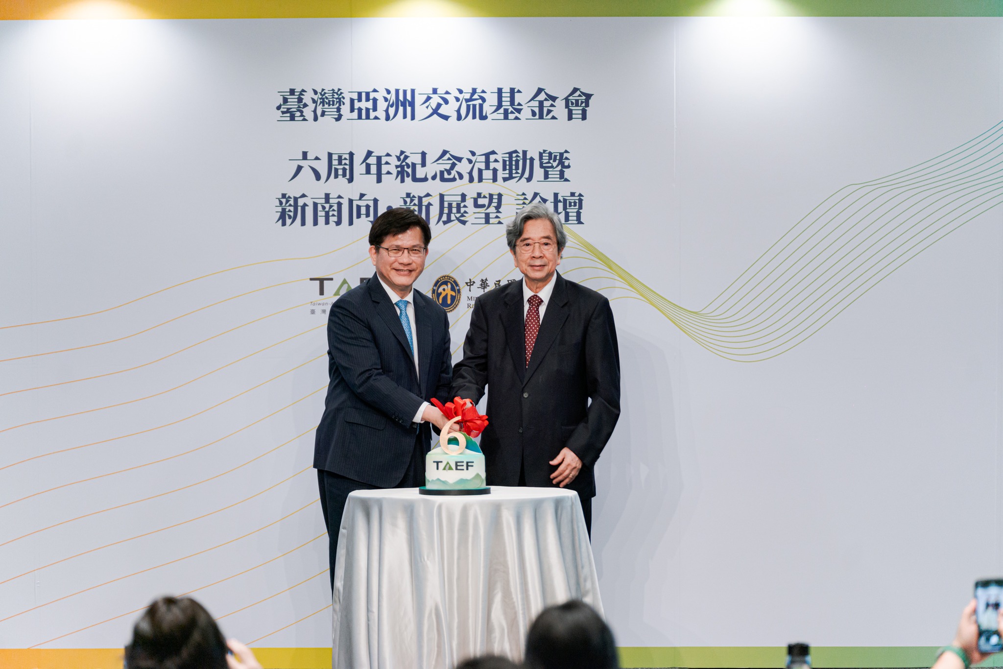
[{"label": "TAEF cake with gold number 6 and red ribbon bow", "polygon": [[[449,421],[439,434],[439,445],[425,455],[422,494],[485,494],[484,455],[472,437],[487,426],[487,416],[477,413],[473,402],[456,397],[442,404],[432,399]],[[456,425],[460,431],[449,431]]]}]

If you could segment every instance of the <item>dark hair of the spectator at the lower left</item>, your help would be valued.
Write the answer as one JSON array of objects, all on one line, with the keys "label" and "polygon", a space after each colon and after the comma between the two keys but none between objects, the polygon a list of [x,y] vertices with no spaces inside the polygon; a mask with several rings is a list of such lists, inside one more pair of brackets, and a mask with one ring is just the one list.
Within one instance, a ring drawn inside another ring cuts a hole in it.
[{"label": "dark hair of the spectator at the lower left", "polygon": [[227,669],[227,642],[194,599],[161,597],[132,629],[125,669]]}]

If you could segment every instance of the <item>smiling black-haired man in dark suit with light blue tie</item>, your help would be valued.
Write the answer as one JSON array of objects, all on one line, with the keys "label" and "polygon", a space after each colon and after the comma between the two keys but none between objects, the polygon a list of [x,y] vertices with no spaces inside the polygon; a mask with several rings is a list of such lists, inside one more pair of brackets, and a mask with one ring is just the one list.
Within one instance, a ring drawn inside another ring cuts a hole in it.
[{"label": "smiling black-haired man in dark suit with light blue tie", "polygon": [[430,425],[452,371],[449,319],[411,288],[425,267],[431,230],[412,210],[381,214],[369,229],[376,273],[331,305],[324,415],[314,467],[330,541],[331,583],[345,499],[352,490],[424,485]]}]

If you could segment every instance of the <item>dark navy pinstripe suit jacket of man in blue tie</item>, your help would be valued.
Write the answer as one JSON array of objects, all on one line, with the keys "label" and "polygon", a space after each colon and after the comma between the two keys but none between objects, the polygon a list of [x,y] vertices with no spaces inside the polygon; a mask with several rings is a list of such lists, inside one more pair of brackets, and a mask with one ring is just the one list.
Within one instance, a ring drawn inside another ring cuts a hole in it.
[{"label": "dark navy pinstripe suit jacket of man in blue tie", "polygon": [[314,442],[314,467],[379,487],[404,475],[428,423],[411,422],[422,401],[446,400],[452,377],[449,319],[414,291],[418,366],[397,308],[374,274],[331,305],[327,319],[330,383]]}]

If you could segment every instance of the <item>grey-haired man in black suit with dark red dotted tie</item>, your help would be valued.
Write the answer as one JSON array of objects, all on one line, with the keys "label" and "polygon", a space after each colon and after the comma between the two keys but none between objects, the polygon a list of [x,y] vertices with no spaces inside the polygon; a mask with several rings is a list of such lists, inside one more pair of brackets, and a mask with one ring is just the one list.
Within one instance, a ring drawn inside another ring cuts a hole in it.
[{"label": "grey-haired man in black suit with dark red dotted tie", "polygon": [[593,467],[620,416],[620,353],[610,301],[557,273],[567,241],[531,205],[506,229],[523,280],[477,298],[450,397],[480,401],[487,483],[570,487],[592,532]]}]

